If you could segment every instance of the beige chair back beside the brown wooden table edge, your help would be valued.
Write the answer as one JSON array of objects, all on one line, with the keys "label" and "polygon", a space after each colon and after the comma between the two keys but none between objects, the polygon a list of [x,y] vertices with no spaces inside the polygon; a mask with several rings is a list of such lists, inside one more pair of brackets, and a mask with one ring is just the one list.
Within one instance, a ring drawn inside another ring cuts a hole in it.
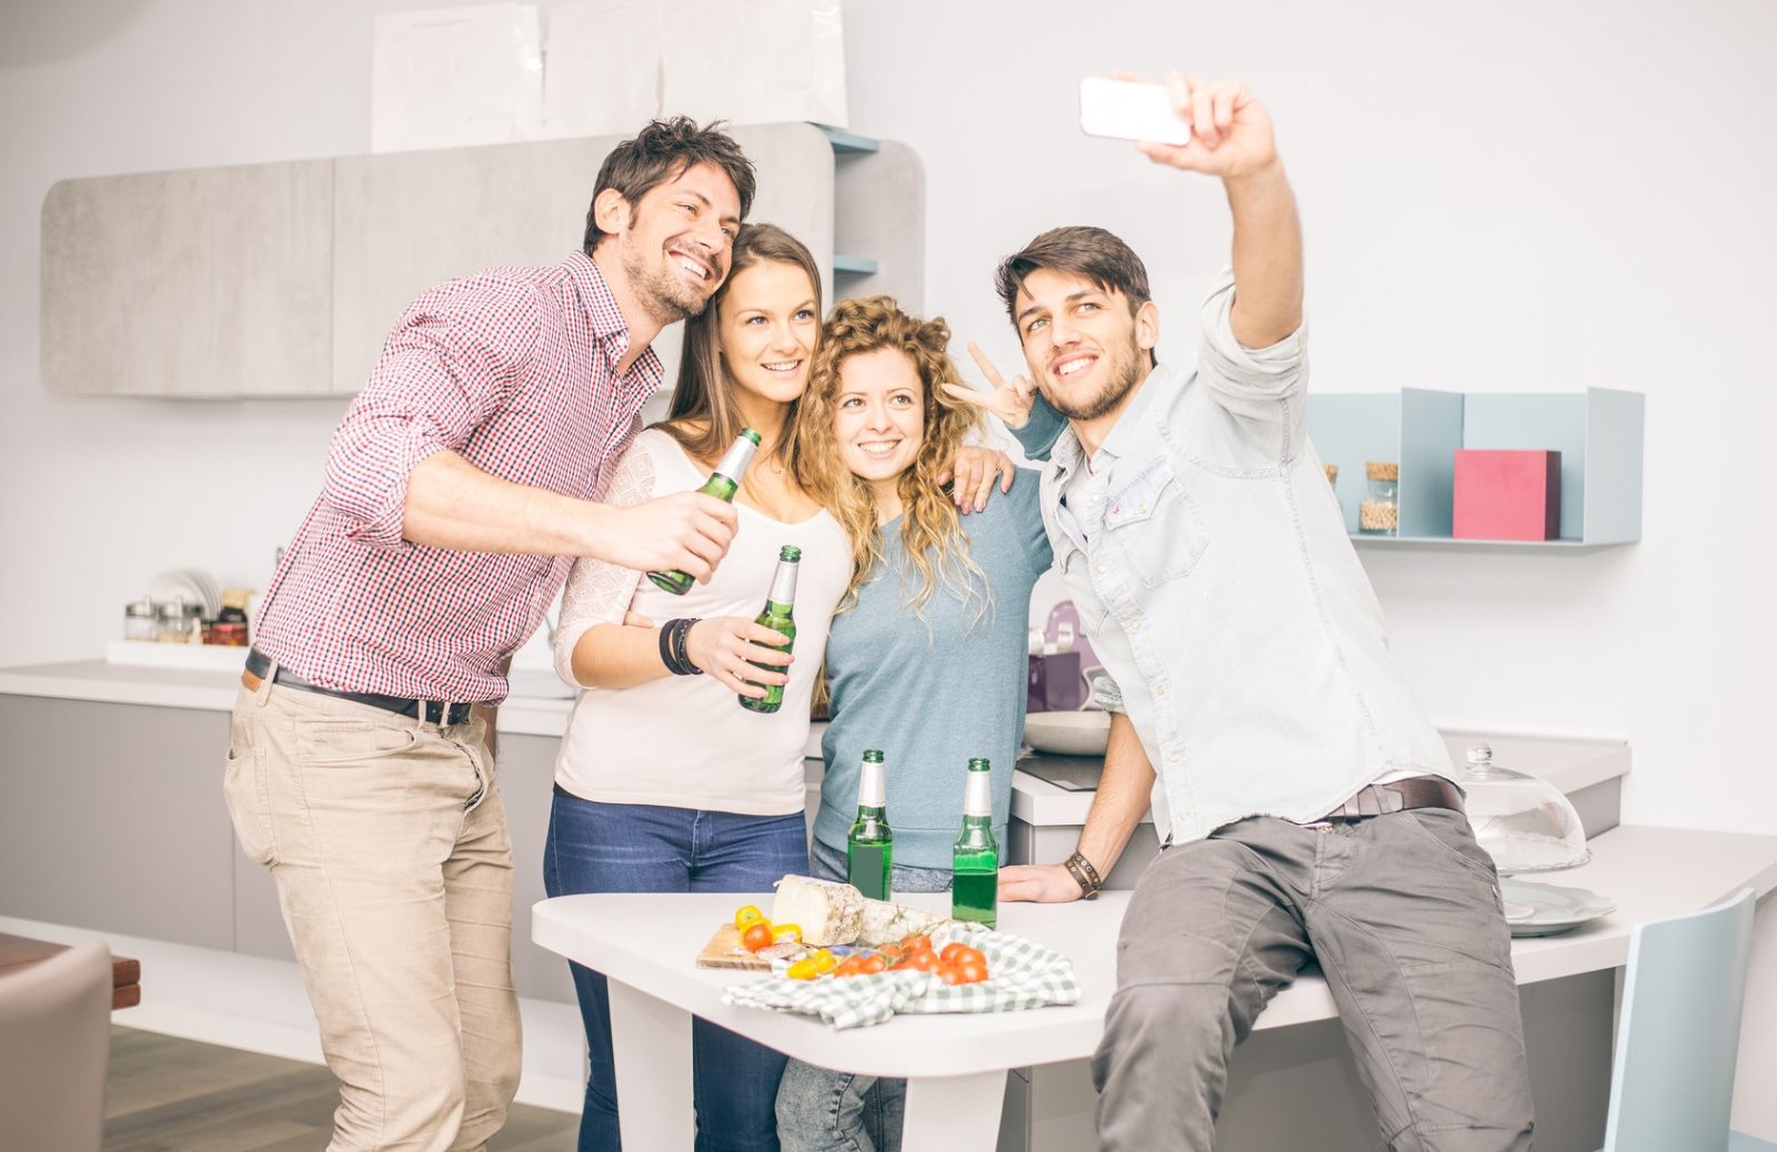
[{"label": "beige chair back beside the brown wooden table edge", "polygon": [[103,943],[0,974],[0,1145],[100,1152],[110,999]]}]

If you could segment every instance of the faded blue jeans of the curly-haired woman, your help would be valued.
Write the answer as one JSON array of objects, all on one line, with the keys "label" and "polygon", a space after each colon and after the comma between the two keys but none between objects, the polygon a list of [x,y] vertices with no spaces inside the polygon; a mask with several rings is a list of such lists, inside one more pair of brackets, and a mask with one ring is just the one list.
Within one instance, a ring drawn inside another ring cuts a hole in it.
[{"label": "faded blue jeans of the curly-haired woman", "polygon": [[[846,854],[814,841],[814,875],[846,879]],[[945,868],[894,866],[897,893],[947,893]],[[899,1152],[906,1081],[832,1072],[791,1060],[778,1088],[778,1138],[784,1152]]]}]

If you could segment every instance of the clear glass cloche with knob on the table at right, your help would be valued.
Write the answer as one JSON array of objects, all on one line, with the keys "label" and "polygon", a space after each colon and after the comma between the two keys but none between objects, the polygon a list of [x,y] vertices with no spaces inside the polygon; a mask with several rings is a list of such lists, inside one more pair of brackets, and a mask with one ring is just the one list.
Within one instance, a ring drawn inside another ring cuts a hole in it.
[{"label": "clear glass cloche with knob on the table at right", "polygon": [[1468,749],[1461,785],[1475,840],[1500,875],[1578,868],[1590,859],[1573,802],[1546,779],[1493,763],[1493,747]]}]

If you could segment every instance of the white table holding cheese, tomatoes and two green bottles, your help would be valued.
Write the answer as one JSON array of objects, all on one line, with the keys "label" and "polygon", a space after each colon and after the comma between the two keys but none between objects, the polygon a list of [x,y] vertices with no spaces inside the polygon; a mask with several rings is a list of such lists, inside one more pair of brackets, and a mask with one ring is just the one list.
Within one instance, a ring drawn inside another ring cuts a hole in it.
[{"label": "white table holding cheese, tomatoes and two green bottles", "polygon": [[[1550,880],[1608,895],[1617,912],[1567,935],[1516,941],[1519,983],[1619,967],[1637,923],[1697,911],[1749,886],[1765,895],[1777,886],[1777,836],[1619,827],[1592,840],[1592,863]],[[903,900],[945,909],[949,896]],[[610,978],[626,1147],[691,1147],[697,1015],[814,1065],[908,1077],[908,1148],[992,1150],[1008,1069],[1079,1060],[1098,1045],[1128,893],[1105,893],[1091,903],[1000,907],[1002,930],[1073,959],[1086,990],[1079,1005],[908,1015],[848,1031],[810,1017],[723,1005],[727,985],[753,976],[693,967],[716,925],[748,902],[769,911],[768,895],[594,895],[535,905],[531,937],[538,944]],[[1256,1026],[1333,1015],[1326,983],[1310,973],[1279,992]]]}]

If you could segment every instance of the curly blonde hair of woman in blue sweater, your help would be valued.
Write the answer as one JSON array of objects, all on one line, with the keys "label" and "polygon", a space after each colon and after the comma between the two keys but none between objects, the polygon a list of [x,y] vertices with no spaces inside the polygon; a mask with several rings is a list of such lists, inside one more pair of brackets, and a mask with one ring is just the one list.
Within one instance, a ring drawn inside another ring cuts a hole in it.
[{"label": "curly blonde hair of woman in blue sweater", "polygon": [[821,346],[814,353],[809,392],[798,412],[796,440],[801,451],[796,469],[801,486],[819,493],[828,511],[851,536],[851,586],[846,589],[842,609],[857,604],[858,588],[883,550],[876,499],[869,485],[841,462],[839,444],[833,438],[839,371],[849,357],[878,348],[904,353],[924,383],[926,438],[899,483],[904,508],[901,543],[920,575],[919,591],[908,598],[913,612],[924,618],[926,602],[940,584],[952,589],[963,604],[979,600],[977,619],[992,605],[992,589],[979,564],[968,556],[968,538],[963,534],[956,506],[935,479],[956,456],[963,437],[981,424],[972,405],[951,399],[938,387],[945,380],[960,378],[945,351],[949,343],[951,328],[942,318],[922,321],[908,316],[894,296],[842,300],[821,327]]}]

